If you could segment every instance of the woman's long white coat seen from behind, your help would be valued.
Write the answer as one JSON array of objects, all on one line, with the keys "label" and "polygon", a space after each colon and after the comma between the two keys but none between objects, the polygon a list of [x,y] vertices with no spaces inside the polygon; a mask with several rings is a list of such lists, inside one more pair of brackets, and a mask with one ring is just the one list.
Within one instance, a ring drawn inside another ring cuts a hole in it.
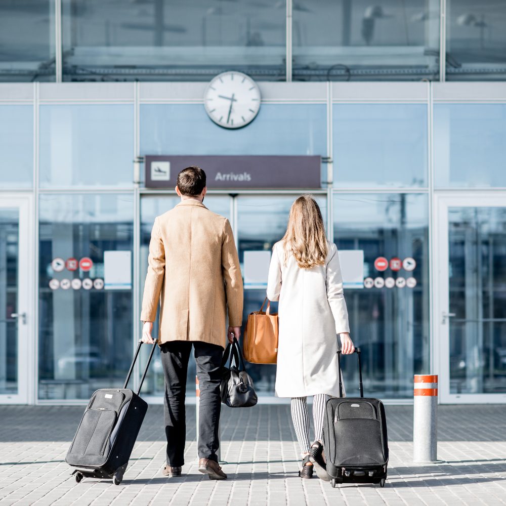
[{"label": "woman's long white coat seen from behind", "polygon": [[301,269],[274,244],[267,297],[279,301],[276,395],[339,397],[336,334],[350,329],[338,248],[329,245],[324,265]]}]

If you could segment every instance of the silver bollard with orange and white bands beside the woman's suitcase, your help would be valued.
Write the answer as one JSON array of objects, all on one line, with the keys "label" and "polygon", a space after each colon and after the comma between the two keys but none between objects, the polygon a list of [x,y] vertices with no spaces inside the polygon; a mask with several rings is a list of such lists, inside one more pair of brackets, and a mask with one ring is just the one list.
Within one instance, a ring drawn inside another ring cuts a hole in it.
[{"label": "silver bollard with orange and white bands beside the woman's suitcase", "polygon": [[435,462],[438,453],[437,374],[415,374],[413,395],[413,461]]}]

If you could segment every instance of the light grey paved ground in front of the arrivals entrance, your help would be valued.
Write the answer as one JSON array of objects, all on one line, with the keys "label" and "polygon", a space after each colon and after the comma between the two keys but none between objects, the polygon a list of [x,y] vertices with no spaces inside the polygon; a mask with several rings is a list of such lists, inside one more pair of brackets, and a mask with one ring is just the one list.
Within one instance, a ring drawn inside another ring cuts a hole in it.
[{"label": "light grey paved ground in front of the arrivals entrance", "polygon": [[167,479],[163,411],[150,406],[123,482],[76,484],[65,454],[83,408],[0,406],[0,504],[506,504],[506,406],[439,408],[438,465],[411,461],[412,407],[387,406],[390,442],[385,488],[332,489],[298,476],[298,448],[289,406],[223,409],[222,459],[226,481],[196,470],[195,408],[187,408],[183,477]]}]

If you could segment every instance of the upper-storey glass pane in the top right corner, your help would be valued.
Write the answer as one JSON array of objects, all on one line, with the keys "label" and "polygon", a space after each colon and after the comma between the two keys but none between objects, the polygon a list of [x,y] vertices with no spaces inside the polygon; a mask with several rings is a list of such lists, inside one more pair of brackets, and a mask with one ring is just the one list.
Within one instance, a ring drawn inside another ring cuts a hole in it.
[{"label": "upper-storey glass pane in the top right corner", "polygon": [[506,4],[446,0],[446,79],[504,80]]}]

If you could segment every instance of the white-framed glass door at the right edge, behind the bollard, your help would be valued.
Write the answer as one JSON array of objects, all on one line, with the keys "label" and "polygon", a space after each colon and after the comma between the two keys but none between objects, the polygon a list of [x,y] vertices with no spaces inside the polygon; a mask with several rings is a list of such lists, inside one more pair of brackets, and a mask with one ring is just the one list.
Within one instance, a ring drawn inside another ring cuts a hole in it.
[{"label": "white-framed glass door at the right edge, behind the bollard", "polygon": [[499,192],[438,194],[434,211],[440,400],[503,403],[506,198]]}]

